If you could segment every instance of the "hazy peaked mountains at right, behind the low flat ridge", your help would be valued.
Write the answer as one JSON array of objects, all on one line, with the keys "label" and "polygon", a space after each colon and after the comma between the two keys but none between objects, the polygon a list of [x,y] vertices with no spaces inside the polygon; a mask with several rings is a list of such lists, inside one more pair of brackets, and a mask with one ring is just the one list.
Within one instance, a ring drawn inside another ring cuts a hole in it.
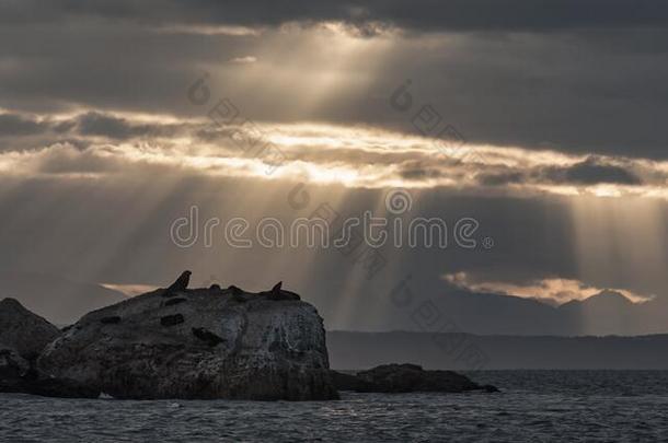
[{"label": "hazy peaked mountains at right, behind the low flat ridge", "polygon": [[[447,320],[457,325],[458,330],[471,334],[631,336],[668,333],[668,302],[656,299],[633,303],[615,291],[601,291],[586,300],[558,306],[535,299],[461,289],[423,300],[436,306],[444,318],[441,323]],[[403,314],[405,317],[407,313]],[[402,329],[436,331],[438,325],[425,327],[414,319]]]}]

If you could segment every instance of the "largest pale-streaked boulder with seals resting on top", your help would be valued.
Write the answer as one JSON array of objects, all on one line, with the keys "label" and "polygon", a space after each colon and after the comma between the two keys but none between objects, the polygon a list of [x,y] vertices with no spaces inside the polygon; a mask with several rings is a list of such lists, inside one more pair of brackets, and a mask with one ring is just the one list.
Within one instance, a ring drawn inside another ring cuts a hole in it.
[{"label": "largest pale-streaked boulder with seals resting on top", "polygon": [[234,289],[177,291],[177,304],[162,289],[94,311],[38,369],[115,398],[337,398],[315,308],[287,291],[277,301]]}]

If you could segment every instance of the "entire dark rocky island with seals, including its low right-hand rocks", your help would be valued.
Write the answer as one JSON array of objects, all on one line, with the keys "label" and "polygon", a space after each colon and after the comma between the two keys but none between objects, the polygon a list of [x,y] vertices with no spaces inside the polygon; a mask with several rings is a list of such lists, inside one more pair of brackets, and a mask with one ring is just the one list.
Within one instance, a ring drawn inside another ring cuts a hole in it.
[{"label": "entire dark rocky island with seals, including its low right-hand rocks", "polygon": [[[276,284],[187,289],[189,272],[84,315],[59,330],[19,302],[0,302],[0,392],[126,399],[331,400],[337,389],[484,388],[449,371],[384,365],[330,370],[323,320]],[[350,387],[353,386],[353,387]]]}]

